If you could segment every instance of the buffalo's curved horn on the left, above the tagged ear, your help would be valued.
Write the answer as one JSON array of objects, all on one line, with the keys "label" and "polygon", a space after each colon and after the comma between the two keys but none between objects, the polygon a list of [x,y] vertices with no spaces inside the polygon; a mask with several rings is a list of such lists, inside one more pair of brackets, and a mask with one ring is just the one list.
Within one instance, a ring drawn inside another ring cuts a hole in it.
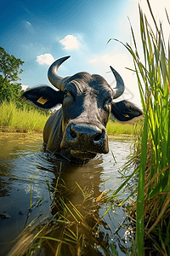
[{"label": "buffalo's curved horn on the left, above the tagged ear", "polygon": [[59,66],[66,61],[70,56],[66,56],[63,58],[60,58],[57,61],[54,61],[54,63],[48,68],[48,79],[51,84],[53,84],[56,88],[59,90],[64,90],[65,83],[69,77],[62,78],[58,75],[57,71]]}]

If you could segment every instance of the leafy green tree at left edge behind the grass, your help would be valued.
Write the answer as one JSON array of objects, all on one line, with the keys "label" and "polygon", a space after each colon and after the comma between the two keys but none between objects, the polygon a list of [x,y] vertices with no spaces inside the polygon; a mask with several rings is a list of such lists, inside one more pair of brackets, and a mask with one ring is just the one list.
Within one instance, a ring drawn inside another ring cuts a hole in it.
[{"label": "leafy green tree at left edge behind the grass", "polygon": [[20,66],[24,61],[9,55],[0,47],[0,102],[15,100],[20,96],[21,84],[19,74],[23,72]]}]

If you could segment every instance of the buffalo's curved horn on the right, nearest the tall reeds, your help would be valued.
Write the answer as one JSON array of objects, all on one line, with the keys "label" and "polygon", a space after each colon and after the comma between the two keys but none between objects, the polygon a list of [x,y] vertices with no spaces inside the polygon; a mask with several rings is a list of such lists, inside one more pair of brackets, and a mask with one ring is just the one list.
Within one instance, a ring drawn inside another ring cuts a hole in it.
[{"label": "buffalo's curved horn on the right, nearest the tall reeds", "polygon": [[124,85],[124,82],[122,80],[122,77],[120,76],[119,73],[116,72],[116,70],[113,67],[111,67],[111,71],[112,71],[112,73],[114,74],[114,76],[116,78],[116,88],[113,88],[113,90],[115,92],[114,99],[116,99],[119,96],[122,96],[122,93],[125,90],[125,85]]}]

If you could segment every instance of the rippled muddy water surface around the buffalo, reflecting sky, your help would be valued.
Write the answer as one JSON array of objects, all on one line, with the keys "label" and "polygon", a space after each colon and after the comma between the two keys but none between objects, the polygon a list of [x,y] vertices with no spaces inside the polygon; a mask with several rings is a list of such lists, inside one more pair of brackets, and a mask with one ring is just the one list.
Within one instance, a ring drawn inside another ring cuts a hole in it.
[{"label": "rippled muddy water surface around the buffalo, reflecting sky", "polygon": [[[42,141],[32,142],[26,137],[0,140],[0,255],[7,255],[14,239],[32,220],[37,218],[38,222],[53,215],[49,190],[54,189],[61,170],[69,189],[75,188],[77,182],[96,197],[106,189],[115,191],[122,183],[119,171],[130,153],[129,142],[110,140],[109,154],[99,155],[84,166],[75,166],[42,154],[41,146]],[[71,195],[70,200],[77,205],[82,193]],[[99,217],[106,209],[105,205],[99,208]],[[128,241],[130,223],[126,212],[122,207],[112,208],[104,221],[106,226],[100,227],[100,233],[108,240],[108,247],[113,243],[118,255],[126,255],[125,249],[132,247]],[[99,255],[105,254],[99,252]]]}]

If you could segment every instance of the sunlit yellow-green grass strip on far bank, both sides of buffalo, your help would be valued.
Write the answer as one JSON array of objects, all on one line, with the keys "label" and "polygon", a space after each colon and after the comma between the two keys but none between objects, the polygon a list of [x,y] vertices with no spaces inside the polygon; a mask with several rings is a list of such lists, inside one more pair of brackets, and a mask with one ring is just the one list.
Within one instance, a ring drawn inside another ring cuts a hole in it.
[{"label": "sunlit yellow-green grass strip on far bank, both sides of buffalo", "polygon": [[[0,126],[8,127],[9,131],[42,131],[48,119],[46,113],[39,113],[36,109],[17,108],[14,102],[0,104],[0,113]],[[133,131],[133,124],[120,124],[111,120],[107,124],[107,132],[111,135],[133,135]]]}]

